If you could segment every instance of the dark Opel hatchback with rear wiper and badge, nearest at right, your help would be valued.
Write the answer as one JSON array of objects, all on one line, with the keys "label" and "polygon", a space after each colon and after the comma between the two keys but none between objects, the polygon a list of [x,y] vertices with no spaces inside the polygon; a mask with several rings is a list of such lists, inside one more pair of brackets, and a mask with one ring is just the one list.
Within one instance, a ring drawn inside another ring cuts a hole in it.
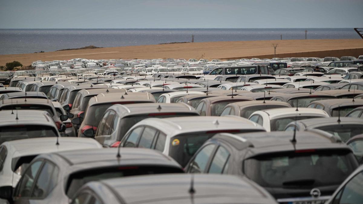
[{"label": "dark Opel hatchback with rear wiper and badge, nearest at right", "polygon": [[324,131],[308,130],[220,133],[199,148],[185,170],[244,175],[279,203],[290,204],[323,203],[357,167],[346,144]]}]

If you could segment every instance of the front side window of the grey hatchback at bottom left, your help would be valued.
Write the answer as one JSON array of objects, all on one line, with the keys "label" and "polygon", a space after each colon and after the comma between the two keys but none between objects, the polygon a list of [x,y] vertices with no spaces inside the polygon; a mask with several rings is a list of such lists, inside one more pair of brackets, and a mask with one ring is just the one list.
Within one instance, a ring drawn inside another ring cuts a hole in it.
[{"label": "front side window of the grey hatchback at bottom left", "polygon": [[41,164],[42,161],[36,161],[25,171],[25,174],[16,186],[16,197],[30,197],[32,186]]}]

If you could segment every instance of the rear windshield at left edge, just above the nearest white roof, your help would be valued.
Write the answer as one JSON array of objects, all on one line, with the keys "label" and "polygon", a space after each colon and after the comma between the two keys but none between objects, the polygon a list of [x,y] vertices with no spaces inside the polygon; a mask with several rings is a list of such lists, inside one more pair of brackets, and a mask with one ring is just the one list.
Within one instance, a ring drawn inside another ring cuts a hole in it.
[{"label": "rear windshield at left edge, just above the nearest white roof", "polygon": [[[52,126],[16,125],[0,127],[0,144],[6,141],[28,138],[56,137],[57,130]],[[55,140],[54,140],[55,141]]]}]

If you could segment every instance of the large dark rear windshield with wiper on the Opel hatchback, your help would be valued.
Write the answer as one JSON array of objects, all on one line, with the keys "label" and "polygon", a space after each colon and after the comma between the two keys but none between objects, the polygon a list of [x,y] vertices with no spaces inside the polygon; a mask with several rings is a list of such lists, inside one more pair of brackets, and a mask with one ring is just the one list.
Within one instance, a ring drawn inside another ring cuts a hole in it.
[{"label": "large dark rear windshield with wiper on the Opel hatchback", "polygon": [[262,187],[312,188],[340,185],[357,165],[354,155],[347,150],[305,150],[247,159],[244,172]]}]

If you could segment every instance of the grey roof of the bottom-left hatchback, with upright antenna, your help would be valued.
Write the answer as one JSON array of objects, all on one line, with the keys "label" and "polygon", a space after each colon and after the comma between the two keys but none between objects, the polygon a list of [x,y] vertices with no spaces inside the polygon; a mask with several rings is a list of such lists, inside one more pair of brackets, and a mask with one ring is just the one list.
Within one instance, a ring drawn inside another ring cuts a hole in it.
[{"label": "grey roof of the bottom-left hatchback, with upright antenna", "polygon": [[[119,151],[121,157],[117,158]],[[148,148],[99,148],[86,150],[70,150],[52,153],[63,160],[69,166],[83,165],[95,162],[111,162],[111,163],[130,163],[131,164],[153,164],[164,163],[165,165],[180,167],[175,160],[162,154],[162,152],[151,150]]]}]

